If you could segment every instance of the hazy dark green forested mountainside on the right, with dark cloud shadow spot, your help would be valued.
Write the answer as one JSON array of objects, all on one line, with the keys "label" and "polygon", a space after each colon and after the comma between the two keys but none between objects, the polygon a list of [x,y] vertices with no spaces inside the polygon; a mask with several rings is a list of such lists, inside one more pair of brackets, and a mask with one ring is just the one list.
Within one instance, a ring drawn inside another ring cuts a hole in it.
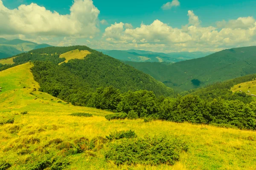
[{"label": "hazy dark green forested mountainside on the right, with dark cloud shadow spot", "polygon": [[256,46],[232,48],[173,64],[125,63],[171,88],[184,91],[256,73]]}]

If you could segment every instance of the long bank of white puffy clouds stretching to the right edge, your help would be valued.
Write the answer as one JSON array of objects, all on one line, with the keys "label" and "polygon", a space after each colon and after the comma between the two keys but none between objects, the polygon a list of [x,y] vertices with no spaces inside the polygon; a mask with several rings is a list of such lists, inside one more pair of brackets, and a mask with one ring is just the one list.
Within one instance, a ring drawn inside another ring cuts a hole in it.
[{"label": "long bank of white puffy clouds stretching to the right edge", "polygon": [[[173,28],[160,20],[149,25],[141,24],[137,28],[127,28],[124,23],[114,23],[105,29],[103,39],[109,44],[158,51],[219,51],[237,45],[256,45],[256,22],[253,17],[239,18],[235,21],[243,25],[202,27],[201,21],[193,11],[188,11],[188,24],[182,28]],[[236,23],[235,22],[235,23]]]}]

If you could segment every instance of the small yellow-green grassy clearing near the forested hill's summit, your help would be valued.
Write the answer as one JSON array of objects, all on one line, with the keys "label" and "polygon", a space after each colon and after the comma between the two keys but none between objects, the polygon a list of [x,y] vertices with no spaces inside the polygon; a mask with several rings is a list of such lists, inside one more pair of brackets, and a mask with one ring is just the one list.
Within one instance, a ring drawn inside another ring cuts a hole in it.
[{"label": "small yellow-green grassy clearing near the forested hill's summit", "polygon": [[[90,52],[87,50],[79,51],[79,49],[76,49],[76,50],[61,54],[60,58],[65,58],[66,60],[64,62],[68,62],[68,60],[70,59],[84,59],[84,57],[86,57],[88,54],[90,54]],[[63,62],[59,63],[59,65],[62,63]]]}]

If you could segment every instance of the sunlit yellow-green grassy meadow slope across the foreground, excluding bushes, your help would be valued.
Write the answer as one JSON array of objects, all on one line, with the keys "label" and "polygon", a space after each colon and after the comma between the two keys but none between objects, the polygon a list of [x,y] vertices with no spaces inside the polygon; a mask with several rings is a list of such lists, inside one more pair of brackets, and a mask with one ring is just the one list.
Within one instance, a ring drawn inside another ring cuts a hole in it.
[{"label": "sunlit yellow-green grassy meadow slope across the foreground, excluding bushes", "polygon": [[[8,170],[26,170],[26,164],[44,160],[43,156],[61,156],[61,147],[75,144],[82,137],[89,140],[108,136],[115,131],[132,130],[138,137],[168,136],[187,143],[188,152],[181,153],[173,166],[116,166],[105,161],[109,147],[78,154],[66,154],[67,170],[255,170],[256,132],[213,126],[166,121],[144,122],[111,120],[108,111],[77,107],[38,90],[29,68],[32,63],[0,72],[0,121],[14,118],[13,124],[0,125],[0,161],[11,164]],[[26,88],[23,88],[25,86]],[[32,94],[29,94],[32,93]],[[52,99],[52,100],[51,100]],[[27,114],[20,112],[27,111]],[[91,113],[93,117],[70,116],[70,113]],[[52,142],[55,141],[55,142]],[[52,143],[52,144],[51,144]],[[62,144],[62,145],[61,145]],[[47,146],[47,147],[45,147]]]}]

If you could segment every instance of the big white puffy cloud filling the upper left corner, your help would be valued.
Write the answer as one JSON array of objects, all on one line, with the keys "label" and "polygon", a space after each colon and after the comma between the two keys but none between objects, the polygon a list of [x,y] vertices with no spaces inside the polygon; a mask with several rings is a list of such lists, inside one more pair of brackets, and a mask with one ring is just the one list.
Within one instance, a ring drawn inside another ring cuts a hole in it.
[{"label": "big white puffy cloud filling the upper left corner", "polygon": [[0,0],[0,35],[88,37],[96,34],[99,10],[92,0],[74,0],[70,14],[61,15],[35,3],[8,9]]}]

